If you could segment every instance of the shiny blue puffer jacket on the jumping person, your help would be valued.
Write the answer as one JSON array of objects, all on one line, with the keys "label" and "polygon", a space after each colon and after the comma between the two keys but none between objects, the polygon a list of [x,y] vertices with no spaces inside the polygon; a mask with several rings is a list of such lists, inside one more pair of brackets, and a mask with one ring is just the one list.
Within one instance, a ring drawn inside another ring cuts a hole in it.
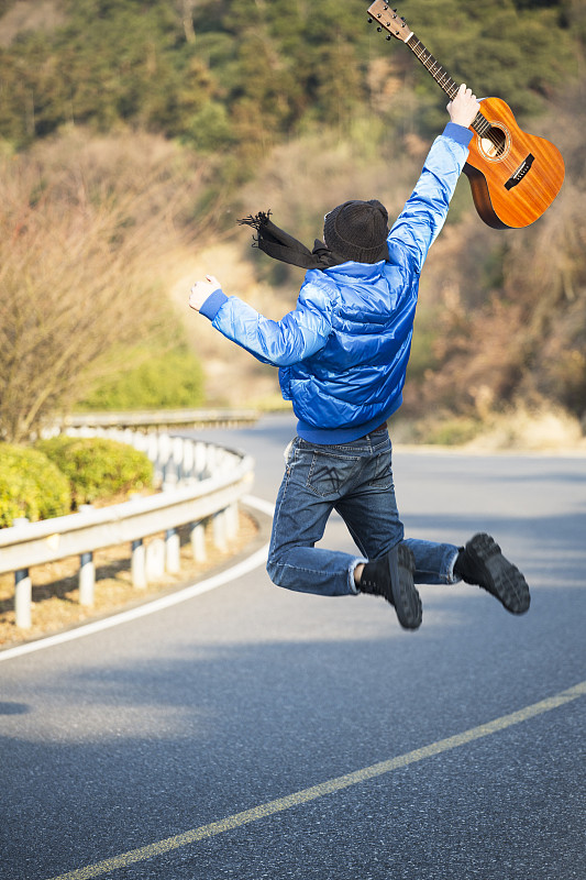
[{"label": "shiny blue puffer jacket on the jumping person", "polygon": [[343,443],[378,427],[402,402],[419,276],[440,232],[472,132],[447,123],[388,235],[388,261],[310,270],[280,321],[215,290],[201,314],[259,361],[279,367],[298,432]]}]

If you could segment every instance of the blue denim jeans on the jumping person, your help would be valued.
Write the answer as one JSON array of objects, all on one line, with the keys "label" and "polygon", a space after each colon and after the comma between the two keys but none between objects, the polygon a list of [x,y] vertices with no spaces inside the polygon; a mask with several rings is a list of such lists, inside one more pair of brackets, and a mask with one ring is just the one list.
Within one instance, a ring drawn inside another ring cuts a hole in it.
[{"label": "blue denim jeans on the jumping person", "polygon": [[[336,510],[361,556],[317,548]],[[296,437],[273,520],[267,572],[278,586],[322,596],[355,594],[354,569],[403,540],[392,482],[387,431],[342,446],[319,446]],[[408,539],[417,583],[450,584],[457,547]]]}]

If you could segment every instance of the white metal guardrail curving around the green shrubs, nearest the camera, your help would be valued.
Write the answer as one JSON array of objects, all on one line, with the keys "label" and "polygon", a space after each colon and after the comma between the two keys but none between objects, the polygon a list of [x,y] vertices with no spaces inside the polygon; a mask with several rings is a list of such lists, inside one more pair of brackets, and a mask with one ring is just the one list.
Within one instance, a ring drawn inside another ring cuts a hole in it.
[{"label": "white metal guardrail curving around the green shrubs, nearest the camera", "polygon": [[[237,532],[237,503],[253,480],[254,462],[241,452],[199,440],[139,431],[82,428],[68,433],[106,436],[142,449],[154,463],[163,491],[148,497],[40,522],[15,520],[0,529],[0,573],[14,572],[16,626],[31,626],[30,568],[78,556],[79,602],[93,604],[93,551],[131,543],[133,586],[144,588],[164,572],[179,571],[180,526],[190,526],[196,561],[202,561],[204,526],[213,524],[213,543],[224,549]],[[146,538],[165,532],[165,539]]]}]

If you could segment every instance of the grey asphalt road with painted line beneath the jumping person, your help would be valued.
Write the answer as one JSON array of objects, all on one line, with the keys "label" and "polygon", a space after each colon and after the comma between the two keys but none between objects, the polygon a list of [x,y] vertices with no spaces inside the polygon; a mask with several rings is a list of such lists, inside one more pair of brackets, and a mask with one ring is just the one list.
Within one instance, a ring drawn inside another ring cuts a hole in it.
[{"label": "grey asphalt road with painted line beneath the jumping person", "polygon": [[[209,432],[273,501],[288,417]],[[409,535],[489,530],[528,615],[421,587],[274,587],[263,568],[2,660],[7,880],[584,880],[586,459],[397,450]],[[335,517],[330,546],[350,548]]]}]

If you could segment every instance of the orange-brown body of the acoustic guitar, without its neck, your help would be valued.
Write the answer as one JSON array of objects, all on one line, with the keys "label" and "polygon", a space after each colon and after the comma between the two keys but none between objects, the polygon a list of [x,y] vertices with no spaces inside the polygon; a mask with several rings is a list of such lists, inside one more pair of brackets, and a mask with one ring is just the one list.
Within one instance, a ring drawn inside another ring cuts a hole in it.
[{"label": "orange-brown body of the acoustic guitar, without its neck", "polygon": [[521,131],[500,98],[485,98],[480,112],[490,139],[475,133],[464,173],[478,215],[494,229],[528,227],[550,207],[564,180],[560,151]]}]

